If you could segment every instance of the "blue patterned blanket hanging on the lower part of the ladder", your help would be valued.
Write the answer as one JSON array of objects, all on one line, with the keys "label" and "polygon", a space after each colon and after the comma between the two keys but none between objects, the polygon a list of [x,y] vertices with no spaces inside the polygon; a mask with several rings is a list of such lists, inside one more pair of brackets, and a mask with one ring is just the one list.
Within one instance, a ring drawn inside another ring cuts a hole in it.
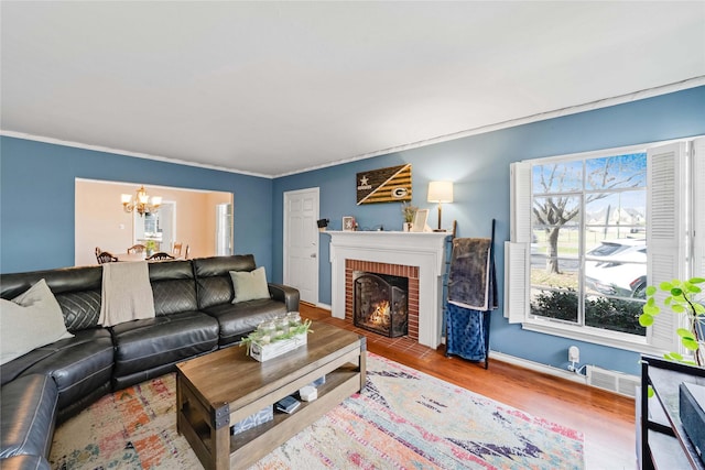
[{"label": "blue patterned blanket hanging on the lower part of the ladder", "polygon": [[473,310],[447,303],[446,354],[470,361],[485,360],[485,321],[489,311]]}]

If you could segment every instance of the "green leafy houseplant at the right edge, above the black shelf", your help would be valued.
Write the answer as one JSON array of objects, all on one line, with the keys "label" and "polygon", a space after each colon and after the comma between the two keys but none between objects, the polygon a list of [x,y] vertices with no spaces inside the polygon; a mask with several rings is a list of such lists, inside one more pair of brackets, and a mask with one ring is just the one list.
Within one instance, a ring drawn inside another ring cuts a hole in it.
[{"label": "green leafy houseplant at the right edge, above the black shelf", "polygon": [[[692,351],[694,360],[687,360],[677,352],[664,354],[665,359],[698,367],[705,365],[705,306],[703,299],[698,298],[702,294],[699,284],[703,283],[705,283],[705,278],[692,277],[687,281],[673,280],[659,285],[659,289],[669,294],[663,299],[663,305],[674,314],[687,316],[687,328],[677,328],[676,334],[681,338],[683,347]],[[654,317],[661,313],[661,307],[657,305],[654,298],[657,292],[655,286],[647,287],[647,303],[643,306],[643,313],[639,316],[639,324],[643,327],[653,325]]]}]

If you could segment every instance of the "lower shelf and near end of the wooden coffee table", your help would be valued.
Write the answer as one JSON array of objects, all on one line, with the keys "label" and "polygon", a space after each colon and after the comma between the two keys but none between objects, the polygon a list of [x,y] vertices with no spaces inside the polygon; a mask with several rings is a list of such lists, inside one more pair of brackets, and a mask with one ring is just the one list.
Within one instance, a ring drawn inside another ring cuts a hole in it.
[{"label": "lower shelf and near end of the wooden coffee table", "polygon": [[[359,347],[358,347],[359,348]],[[270,453],[273,449],[293,437],[296,433],[310,426],[321,418],[345,398],[359,392],[365,384],[365,348],[357,349],[352,354],[348,353],[339,358],[326,370],[326,382],[317,389],[318,397],[313,402],[301,402],[301,406],[292,414],[274,412],[272,420],[256,426],[246,431],[230,436],[229,426],[241,418],[249,416],[252,409],[260,409],[263,405],[273,405],[283,396],[294,394],[304,383],[318,378],[317,373],[308,373],[297,380],[260,396],[257,403],[247,406],[246,409],[229,409],[225,416],[218,417],[218,413],[204,406],[198,400],[197,391],[177,374],[177,430],[186,437],[186,440],[196,452],[196,456],[208,470],[246,469]],[[357,354],[358,363],[345,362]],[[313,378],[313,379],[312,379]],[[248,414],[249,413],[249,414]],[[215,423],[214,423],[215,422]],[[223,425],[223,423],[226,425]]]}]

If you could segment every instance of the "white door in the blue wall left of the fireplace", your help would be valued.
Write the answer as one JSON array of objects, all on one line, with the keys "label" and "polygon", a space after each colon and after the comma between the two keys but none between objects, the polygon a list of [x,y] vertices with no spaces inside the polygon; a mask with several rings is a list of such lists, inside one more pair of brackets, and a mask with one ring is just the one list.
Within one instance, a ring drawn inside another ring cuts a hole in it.
[{"label": "white door in the blue wall left of the fireplace", "polygon": [[284,284],[318,304],[318,188],[284,193]]}]

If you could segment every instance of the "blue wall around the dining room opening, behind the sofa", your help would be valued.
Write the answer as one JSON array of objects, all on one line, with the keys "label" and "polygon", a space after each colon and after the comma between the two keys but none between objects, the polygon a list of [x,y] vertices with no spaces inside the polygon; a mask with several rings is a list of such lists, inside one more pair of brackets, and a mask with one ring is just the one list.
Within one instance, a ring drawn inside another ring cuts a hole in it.
[{"label": "blue wall around the dining room opening, behind the sofa", "polygon": [[0,272],[74,265],[75,178],[234,194],[236,253],[272,266],[272,181],[14,138],[0,138]]}]

